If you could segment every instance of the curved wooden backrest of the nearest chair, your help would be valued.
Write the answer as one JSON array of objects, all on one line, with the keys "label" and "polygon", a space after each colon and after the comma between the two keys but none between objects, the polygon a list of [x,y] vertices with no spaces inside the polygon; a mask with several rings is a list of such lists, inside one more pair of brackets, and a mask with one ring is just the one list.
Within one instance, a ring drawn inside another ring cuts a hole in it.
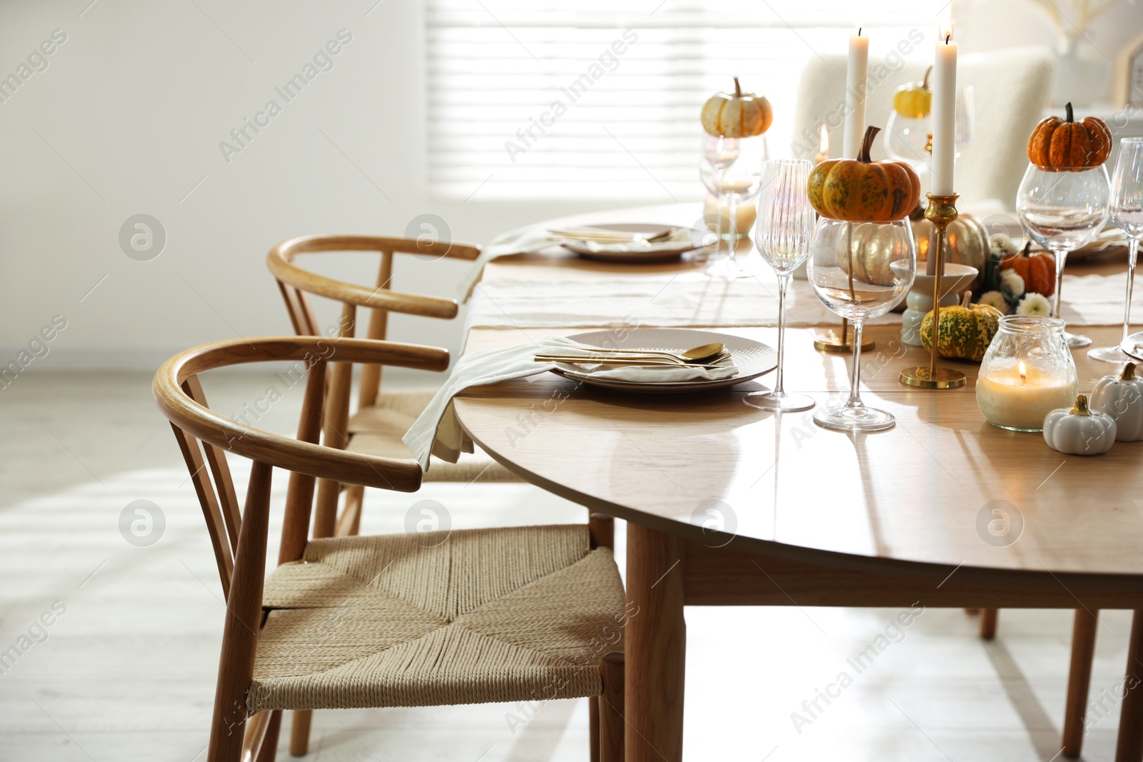
[{"label": "curved wooden backrest of the nearest chair", "polygon": [[[238,563],[243,547],[248,547],[247,552],[254,556],[258,555],[257,548],[261,547],[262,561],[256,558],[249,560],[247,573],[256,575],[261,580],[264,572],[272,468],[290,472],[280,562],[302,558],[310,530],[314,479],[402,492],[414,492],[421,487],[421,466],[415,460],[381,458],[317,443],[325,416],[326,366],[334,360],[443,370],[448,367],[448,351],[415,344],[318,336],[233,339],[182,352],[167,360],[154,376],[152,392],[159,409],[175,430],[183,459],[194,482],[223,591],[227,596],[234,588],[232,580],[239,579]],[[199,374],[225,366],[280,361],[293,363],[280,377],[295,379],[294,383],[303,377],[306,380],[296,440],[233,420],[207,407]],[[241,512],[226,452],[254,462],[246,506]],[[246,581],[254,584],[253,577]],[[258,585],[261,595],[261,583]]]}]

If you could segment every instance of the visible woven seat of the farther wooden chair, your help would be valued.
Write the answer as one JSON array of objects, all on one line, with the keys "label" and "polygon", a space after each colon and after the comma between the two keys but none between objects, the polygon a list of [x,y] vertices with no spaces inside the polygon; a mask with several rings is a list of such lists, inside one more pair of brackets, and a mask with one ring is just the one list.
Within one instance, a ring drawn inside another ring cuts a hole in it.
[{"label": "visible woven seat of the farther wooden chair", "polygon": [[[411,459],[401,438],[429,404],[434,390],[382,392],[377,402],[350,418],[350,450],[385,458]],[[518,482],[520,478],[478,450],[465,452],[456,463],[433,457],[425,481],[439,482]]]}]

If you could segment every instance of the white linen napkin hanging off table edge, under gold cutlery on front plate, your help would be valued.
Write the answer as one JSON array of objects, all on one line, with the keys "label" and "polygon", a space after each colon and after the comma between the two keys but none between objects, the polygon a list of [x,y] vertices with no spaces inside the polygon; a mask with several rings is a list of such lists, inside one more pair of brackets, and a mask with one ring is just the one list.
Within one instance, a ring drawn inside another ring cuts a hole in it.
[{"label": "white linen napkin hanging off table edge, under gold cutlery on front plate", "polygon": [[[523,378],[534,376],[557,368],[567,366],[581,372],[591,372],[599,378],[632,380],[632,382],[687,382],[687,380],[716,380],[730,378],[737,375],[738,369],[733,364],[720,366],[718,368],[701,368],[698,366],[678,366],[670,368],[662,367],[609,367],[591,364],[590,360],[584,363],[536,362],[533,358],[537,353],[550,353],[553,350],[560,354],[584,355],[590,358],[598,353],[599,347],[589,346],[578,342],[573,342],[562,336],[541,339],[535,344],[522,344],[509,346],[499,350],[485,350],[466,354],[456,361],[448,380],[440,387],[440,391],[425,407],[424,412],[413,423],[413,426],[401,441],[409,448],[422,468],[429,468],[429,456],[435,455],[438,458],[449,463],[456,463],[461,452],[472,452],[472,441],[464,435],[459,422],[456,419],[456,410],[453,406],[453,398],[472,386],[483,386],[495,384],[512,378]],[[598,368],[598,370],[596,369]]]}]

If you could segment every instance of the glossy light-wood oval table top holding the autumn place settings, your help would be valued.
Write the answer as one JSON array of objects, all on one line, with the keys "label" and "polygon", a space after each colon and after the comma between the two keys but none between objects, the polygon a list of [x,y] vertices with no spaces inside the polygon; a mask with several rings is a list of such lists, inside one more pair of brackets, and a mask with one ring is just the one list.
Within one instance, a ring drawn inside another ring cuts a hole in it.
[{"label": "glossy light-wood oval table top holding the autumn place settings", "polygon": [[[688,219],[678,208],[658,212],[622,216]],[[671,267],[694,270],[655,265]],[[1122,265],[1087,268],[1117,270]],[[485,279],[615,280],[640,272],[544,252],[497,259]],[[473,328],[465,351],[578,330]],[[774,328],[717,330],[777,340]],[[848,388],[849,358],[814,350],[814,332],[788,329],[785,384],[821,402]],[[1118,338],[1113,328],[1086,332],[1096,344]],[[1143,573],[1143,442],[1117,442],[1095,457],[1056,452],[1040,434],[985,423],[975,399],[977,364],[942,362],[968,375],[964,388],[914,390],[897,376],[927,364],[928,353],[902,344],[900,327],[870,327],[866,338],[877,347],[862,356],[863,399],[897,419],[884,432],[847,434],[818,427],[812,410],[752,408],[742,398],[762,388],[759,382],[660,396],[542,374],[469,390],[456,398],[456,410],[474,441],[528,481],[706,545],[734,536],[736,547],[761,554],[817,558],[824,551],[855,560]],[[1117,369],[1088,360],[1084,350],[1074,359],[1081,391]]]}]

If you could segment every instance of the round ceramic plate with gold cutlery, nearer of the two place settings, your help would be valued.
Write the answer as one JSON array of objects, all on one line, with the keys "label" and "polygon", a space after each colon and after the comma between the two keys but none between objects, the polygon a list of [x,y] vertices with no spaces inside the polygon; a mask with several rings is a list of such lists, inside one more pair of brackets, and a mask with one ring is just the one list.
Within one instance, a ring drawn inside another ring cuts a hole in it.
[{"label": "round ceramic plate with gold cutlery, nearer of the two place settings", "polygon": [[656,394],[679,394],[684,392],[704,392],[712,388],[724,388],[764,376],[777,368],[778,354],[772,347],[729,334],[692,330],[689,328],[633,328],[621,332],[620,329],[596,330],[576,334],[568,338],[582,344],[617,350],[668,350],[682,352],[703,344],[719,342],[730,351],[730,361],[738,368],[738,375],[718,380],[693,380],[670,384],[647,384],[617,380],[614,378],[594,378],[591,374],[575,370],[573,366],[563,366],[553,374],[583,382],[592,386],[620,390],[624,392],[649,392]]}]

